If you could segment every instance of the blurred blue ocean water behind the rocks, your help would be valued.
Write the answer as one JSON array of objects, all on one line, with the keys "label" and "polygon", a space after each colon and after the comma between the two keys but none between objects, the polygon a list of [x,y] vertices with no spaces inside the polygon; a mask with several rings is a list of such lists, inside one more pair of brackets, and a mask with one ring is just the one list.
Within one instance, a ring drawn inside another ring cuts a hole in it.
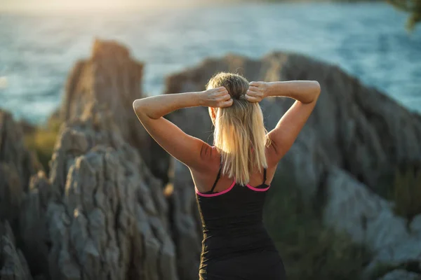
[{"label": "blurred blue ocean water behind the rocks", "polygon": [[[421,28],[386,3],[267,3],[126,12],[0,13],[0,108],[42,123],[60,103],[76,59],[94,37],[128,45],[145,62],[143,90],[169,73],[234,52],[272,50],[337,64],[421,112]],[[311,28],[309,28],[311,27]]]}]

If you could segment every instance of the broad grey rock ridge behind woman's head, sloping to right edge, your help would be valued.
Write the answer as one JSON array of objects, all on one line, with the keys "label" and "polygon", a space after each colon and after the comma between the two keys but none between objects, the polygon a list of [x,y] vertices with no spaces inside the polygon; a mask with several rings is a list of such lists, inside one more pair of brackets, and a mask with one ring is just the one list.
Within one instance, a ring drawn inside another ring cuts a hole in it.
[{"label": "broad grey rock ridge behind woman's head, sloping to right edge", "polygon": [[[309,57],[274,52],[260,60],[227,55],[206,59],[192,69],[166,80],[166,93],[204,90],[218,71],[239,72],[248,80],[318,80],[322,93],[297,141],[279,163],[279,170],[302,189],[308,203],[323,205],[323,221],[346,230],[357,242],[373,249],[377,262],[392,264],[421,260],[421,235],[406,228],[406,221],[393,214],[392,205],[375,195],[382,193],[392,171],[421,161],[421,118],[410,113],[382,92],[366,87],[337,66]],[[265,124],[276,125],[293,100],[273,97],[261,102]],[[211,141],[212,124],[206,108],[179,110],[171,120],[185,132]],[[193,186],[186,167],[175,169],[174,200],[190,205]],[[190,218],[185,215],[189,214]],[[173,216],[196,221],[194,212],[182,207]],[[411,225],[419,229],[419,218]],[[194,228],[177,223],[179,232]],[[194,242],[196,236],[189,237]],[[187,258],[187,257],[185,257]],[[183,262],[194,262],[194,256]],[[181,261],[181,260],[179,260]],[[192,278],[193,279],[193,278]]]}]

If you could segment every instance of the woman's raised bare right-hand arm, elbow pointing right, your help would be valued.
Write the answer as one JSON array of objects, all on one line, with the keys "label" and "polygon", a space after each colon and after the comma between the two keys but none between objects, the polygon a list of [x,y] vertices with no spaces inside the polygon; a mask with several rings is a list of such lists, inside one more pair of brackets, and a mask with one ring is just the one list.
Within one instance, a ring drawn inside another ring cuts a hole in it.
[{"label": "woman's raised bare right-hand arm, elbow pointing right", "polygon": [[320,94],[320,85],[316,80],[288,80],[285,82],[251,82],[246,94],[250,102],[260,102],[265,97],[289,97],[295,99],[293,106],[283,114],[276,127],[269,132],[276,165],[293,146],[295,139],[312,113]]}]

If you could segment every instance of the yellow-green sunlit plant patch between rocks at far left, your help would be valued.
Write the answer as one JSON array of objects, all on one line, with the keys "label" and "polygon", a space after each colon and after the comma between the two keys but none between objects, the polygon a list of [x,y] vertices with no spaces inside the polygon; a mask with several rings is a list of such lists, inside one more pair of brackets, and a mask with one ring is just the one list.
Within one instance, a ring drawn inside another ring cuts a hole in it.
[{"label": "yellow-green sunlit plant patch between rocks at far left", "polygon": [[55,140],[58,137],[59,130],[60,122],[52,120],[45,127],[36,127],[34,132],[25,135],[25,145],[29,150],[36,153],[47,174],[50,169],[48,162],[53,155]]}]

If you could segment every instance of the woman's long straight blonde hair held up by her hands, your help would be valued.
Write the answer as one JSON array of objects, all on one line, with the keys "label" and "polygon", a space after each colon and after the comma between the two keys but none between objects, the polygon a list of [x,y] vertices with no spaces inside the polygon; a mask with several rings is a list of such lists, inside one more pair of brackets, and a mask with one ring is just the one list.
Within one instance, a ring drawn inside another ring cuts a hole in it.
[{"label": "woman's long straight blonde hair held up by her hands", "polygon": [[[206,89],[225,87],[232,106],[215,109],[213,144],[221,156],[222,174],[246,185],[252,170],[267,168],[265,147],[269,144],[263,113],[258,102],[248,102],[248,80],[234,73],[218,73]],[[210,109],[209,109],[210,111]]]}]

